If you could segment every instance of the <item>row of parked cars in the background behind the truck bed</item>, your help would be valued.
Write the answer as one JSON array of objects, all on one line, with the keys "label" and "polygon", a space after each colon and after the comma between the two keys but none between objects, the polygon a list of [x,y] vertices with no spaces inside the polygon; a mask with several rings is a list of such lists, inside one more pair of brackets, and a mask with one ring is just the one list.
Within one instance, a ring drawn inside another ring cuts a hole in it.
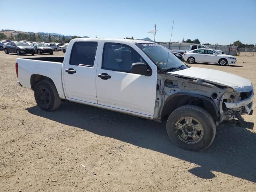
[{"label": "row of parked cars in the background behind the truck bed", "polygon": [[68,47],[67,43],[49,43],[49,42],[26,42],[26,41],[0,41],[0,50],[4,50],[6,54],[16,53],[21,54],[53,54],[53,51],[66,52]]}]

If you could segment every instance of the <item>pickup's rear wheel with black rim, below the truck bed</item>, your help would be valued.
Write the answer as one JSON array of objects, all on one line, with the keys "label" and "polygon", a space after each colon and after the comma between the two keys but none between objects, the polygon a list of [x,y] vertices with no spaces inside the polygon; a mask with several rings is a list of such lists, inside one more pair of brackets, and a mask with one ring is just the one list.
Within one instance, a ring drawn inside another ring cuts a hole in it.
[{"label": "pickup's rear wheel with black rim, below the truck bed", "polygon": [[36,84],[34,97],[37,105],[44,111],[54,111],[61,104],[57,89],[50,80],[42,80]]}]

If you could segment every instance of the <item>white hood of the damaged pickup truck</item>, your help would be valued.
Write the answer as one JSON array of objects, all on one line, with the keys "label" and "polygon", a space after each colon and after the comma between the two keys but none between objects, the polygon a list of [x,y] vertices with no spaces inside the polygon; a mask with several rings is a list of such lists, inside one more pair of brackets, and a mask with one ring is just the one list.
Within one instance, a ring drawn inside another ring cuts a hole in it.
[{"label": "white hood of the damaged pickup truck", "polygon": [[253,89],[250,80],[223,71],[190,67],[184,70],[168,72],[169,74],[174,74],[176,76],[188,77],[192,79],[200,79],[205,82],[217,84],[220,86],[231,87],[237,92],[249,92]]}]

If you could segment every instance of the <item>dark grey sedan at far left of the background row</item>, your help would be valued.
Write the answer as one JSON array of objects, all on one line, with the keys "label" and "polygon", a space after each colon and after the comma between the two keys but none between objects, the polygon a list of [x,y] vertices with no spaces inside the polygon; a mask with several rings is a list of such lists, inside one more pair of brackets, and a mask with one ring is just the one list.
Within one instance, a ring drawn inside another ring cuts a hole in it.
[{"label": "dark grey sedan at far left of the background row", "polygon": [[22,55],[22,54],[34,55],[35,49],[23,42],[8,42],[4,44],[4,52],[6,54],[16,53],[17,55]]}]

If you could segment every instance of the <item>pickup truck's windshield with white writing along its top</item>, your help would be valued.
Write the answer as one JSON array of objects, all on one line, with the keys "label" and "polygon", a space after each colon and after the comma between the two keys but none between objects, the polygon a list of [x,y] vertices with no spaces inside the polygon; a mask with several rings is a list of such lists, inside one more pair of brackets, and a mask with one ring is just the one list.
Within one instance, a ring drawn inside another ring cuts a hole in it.
[{"label": "pickup truck's windshield with white writing along its top", "polygon": [[153,43],[136,44],[162,71],[184,69],[187,66],[164,46]]}]

